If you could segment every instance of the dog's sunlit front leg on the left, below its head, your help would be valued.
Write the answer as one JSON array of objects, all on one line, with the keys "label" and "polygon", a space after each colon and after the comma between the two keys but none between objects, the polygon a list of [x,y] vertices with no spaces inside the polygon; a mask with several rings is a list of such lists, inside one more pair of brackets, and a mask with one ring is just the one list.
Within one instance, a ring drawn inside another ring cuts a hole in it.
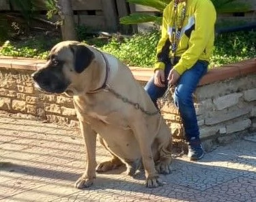
[{"label": "dog's sunlit front leg on the left, below its head", "polygon": [[97,133],[85,121],[79,121],[81,133],[85,141],[87,164],[85,173],[76,181],[74,186],[82,189],[91,186],[96,177],[96,136]]}]

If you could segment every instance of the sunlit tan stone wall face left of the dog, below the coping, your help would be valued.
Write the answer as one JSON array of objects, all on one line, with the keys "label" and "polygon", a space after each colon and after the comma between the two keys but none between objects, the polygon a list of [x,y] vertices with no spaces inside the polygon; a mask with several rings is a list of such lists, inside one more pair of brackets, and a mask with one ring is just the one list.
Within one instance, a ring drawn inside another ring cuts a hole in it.
[{"label": "sunlit tan stone wall face left of the dog, below the coping", "polygon": [[33,70],[0,68],[0,110],[26,113],[47,121],[76,124],[72,98],[42,93],[33,87]]}]

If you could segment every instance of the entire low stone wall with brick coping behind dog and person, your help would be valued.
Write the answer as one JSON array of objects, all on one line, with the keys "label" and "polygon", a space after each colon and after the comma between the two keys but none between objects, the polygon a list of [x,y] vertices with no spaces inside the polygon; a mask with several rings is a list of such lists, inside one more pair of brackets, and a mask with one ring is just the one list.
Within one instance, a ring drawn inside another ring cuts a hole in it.
[{"label": "entire low stone wall with brick coping behind dog and person", "polygon": [[[33,87],[31,74],[42,63],[33,59],[0,58],[0,110],[78,126],[72,98],[42,93]],[[152,76],[152,70],[145,68],[134,68],[132,73],[142,85]],[[256,60],[210,70],[195,91],[195,107],[205,143],[223,142],[256,131]],[[175,141],[182,141],[177,109],[170,102],[163,107],[162,114]]]}]

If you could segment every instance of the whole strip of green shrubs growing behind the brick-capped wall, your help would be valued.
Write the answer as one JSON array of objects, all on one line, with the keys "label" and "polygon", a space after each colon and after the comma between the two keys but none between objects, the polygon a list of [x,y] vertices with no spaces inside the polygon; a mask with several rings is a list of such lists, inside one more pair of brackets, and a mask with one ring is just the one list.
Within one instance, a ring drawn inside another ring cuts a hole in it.
[{"label": "whole strip of green shrubs growing behind the brick-capped wall", "polygon": [[[102,40],[98,37],[88,38],[85,42],[96,46],[101,51],[115,55],[128,66],[153,67],[159,38],[160,32],[153,30],[137,33],[128,38],[114,35],[109,42],[105,38]],[[50,37],[50,39],[42,35],[23,40],[18,44],[8,41],[0,49],[0,55],[45,59],[52,46],[59,42],[58,38]],[[210,67],[256,57],[255,47],[255,31],[217,35]]]}]

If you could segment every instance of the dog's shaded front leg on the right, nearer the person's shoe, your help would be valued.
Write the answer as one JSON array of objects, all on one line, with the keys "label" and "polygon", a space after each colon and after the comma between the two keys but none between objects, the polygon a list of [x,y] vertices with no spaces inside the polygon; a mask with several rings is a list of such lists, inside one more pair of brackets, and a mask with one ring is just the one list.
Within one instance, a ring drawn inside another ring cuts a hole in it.
[{"label": "dog's shaded front leg on the right, nearer the person's shoe", "polygon": [[147,124],[145,123],[143,115],[141,115],[139,119],[132,121],[132,130],[141,149],[146,177],[145,185],[148,188],[162,186],[162,181],[155,169],[154,158],[152,156],[152,136],[150,136],[150,131],[147,129]]}]

